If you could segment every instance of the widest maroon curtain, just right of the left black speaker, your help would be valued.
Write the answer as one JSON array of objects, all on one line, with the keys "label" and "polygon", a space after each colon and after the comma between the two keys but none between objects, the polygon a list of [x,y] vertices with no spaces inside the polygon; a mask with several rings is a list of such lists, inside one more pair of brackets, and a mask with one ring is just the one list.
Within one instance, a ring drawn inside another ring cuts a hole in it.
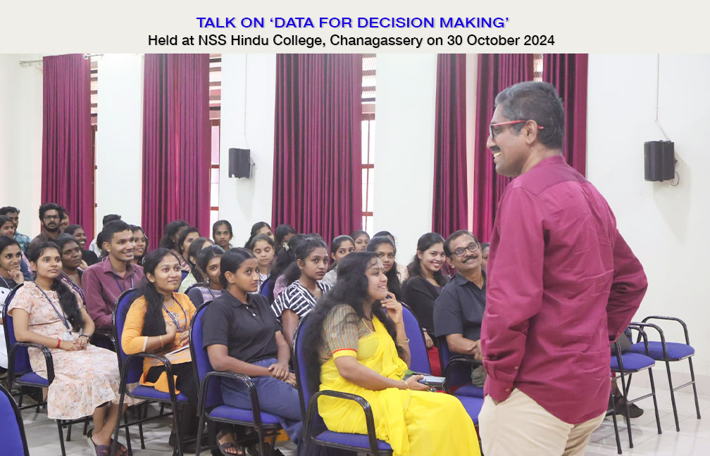
[{"label": "widest maroon curtain, just right of the left black speaker", "polygon": [[326,241],[362,226],[360,54],[276,60],[273,226]]}]

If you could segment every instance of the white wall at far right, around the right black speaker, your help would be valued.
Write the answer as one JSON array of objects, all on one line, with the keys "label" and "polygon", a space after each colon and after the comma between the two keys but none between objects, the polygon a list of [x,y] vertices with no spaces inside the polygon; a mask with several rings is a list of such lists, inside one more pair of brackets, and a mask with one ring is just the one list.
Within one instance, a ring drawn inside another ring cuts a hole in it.
[{"label": "white wall at far right, around the right black speaker", "polygon": [[[587,177],[648,275],[636,319],[672,315],[687,324],[698,374],[710,374],[707,293],[710,242],[710,55],[660,56],[660,123],[675,143],[680,184],[645,182],[643,143],[655,126],[656,55],[590,55]],[[670,326],[670,328],[673,328]],[[669,334],[667,334],[669,335]],[[681,340],[682,333],[670,331]],[[677,363],[674,370],[687,370]]]}]

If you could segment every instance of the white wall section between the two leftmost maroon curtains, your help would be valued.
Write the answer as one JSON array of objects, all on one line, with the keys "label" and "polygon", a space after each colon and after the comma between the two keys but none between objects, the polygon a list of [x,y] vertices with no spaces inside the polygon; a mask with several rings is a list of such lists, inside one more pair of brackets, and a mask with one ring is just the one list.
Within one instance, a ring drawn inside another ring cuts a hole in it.
[{"label": "white wall section between the two leftmost maroon curtains", "polygon": [[140,225],[142,193],[143,56],[106,54],[98,66],[94,233],[108,213]]}]

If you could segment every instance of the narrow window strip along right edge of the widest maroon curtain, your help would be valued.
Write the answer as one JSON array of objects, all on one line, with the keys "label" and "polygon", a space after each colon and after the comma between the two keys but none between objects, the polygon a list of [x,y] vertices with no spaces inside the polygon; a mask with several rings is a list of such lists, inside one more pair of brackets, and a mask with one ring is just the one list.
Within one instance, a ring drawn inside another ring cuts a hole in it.
[{"label": "narrow window strip along right edge of the widest maroon curtain", "polygon": [[375,188],[376,55],[362,55],[362,229],[372,235]]}]

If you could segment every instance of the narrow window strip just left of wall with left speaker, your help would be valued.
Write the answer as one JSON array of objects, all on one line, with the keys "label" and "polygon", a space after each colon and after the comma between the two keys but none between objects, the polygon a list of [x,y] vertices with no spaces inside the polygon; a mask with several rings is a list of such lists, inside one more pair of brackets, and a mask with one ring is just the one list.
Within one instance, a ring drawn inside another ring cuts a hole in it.
[{"label": "narrow window strip just left of wall with left speaker", "polygon": [[209,226],[219,220],[219,128],[221,111],[222,54],[210,54],[209,124],[212,129],[212,160],[209,165]]}]

